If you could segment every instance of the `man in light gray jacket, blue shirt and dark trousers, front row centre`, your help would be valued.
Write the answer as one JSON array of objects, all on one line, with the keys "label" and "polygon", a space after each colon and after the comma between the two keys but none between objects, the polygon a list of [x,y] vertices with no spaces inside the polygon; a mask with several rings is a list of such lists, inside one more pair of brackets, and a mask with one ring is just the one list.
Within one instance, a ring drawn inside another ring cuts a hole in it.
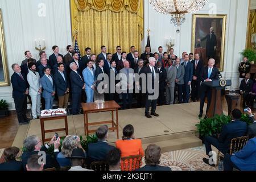
[{"label": "man in light gray jacket, blue shirt and dark trousers, front row centre", "polygon": [[131,108],[131,105],[133,104],[133,83],[134,83],[134,70],[133,68],[130,68],[129,61],[123,62],[124,68],[120,70],[119,73],[122,73],[125,75],[125,78],[120,79],[122,84],[122,100],[123,105],[122,109],[126,109],[127,101],[126,98],[128,96],[128,108]]}]

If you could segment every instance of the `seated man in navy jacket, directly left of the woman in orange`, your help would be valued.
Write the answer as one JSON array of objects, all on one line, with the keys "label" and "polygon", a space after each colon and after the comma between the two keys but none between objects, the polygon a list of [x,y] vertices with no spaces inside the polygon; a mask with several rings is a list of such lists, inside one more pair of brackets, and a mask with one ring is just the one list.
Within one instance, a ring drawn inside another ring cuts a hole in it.
[{"label": "seated man in navy jacket, directly left of the woman in orange", "polygon": [[108,138],[109,129],[108,126],[103,125],[96,130],[96,136],[98,138],[97,143],[89,143],[86,151],[86,163],[105,161],[109,151],[114,149],[106,141]]}]

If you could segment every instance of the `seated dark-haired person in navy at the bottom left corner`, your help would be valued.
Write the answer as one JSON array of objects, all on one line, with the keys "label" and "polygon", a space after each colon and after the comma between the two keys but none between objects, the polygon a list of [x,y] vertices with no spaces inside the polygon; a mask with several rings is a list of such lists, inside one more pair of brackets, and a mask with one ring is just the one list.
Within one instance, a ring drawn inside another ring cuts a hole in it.
[{"label": "seated dark-haired person in navy at the bottom left corner", "polygon": [[3,151],[5,163],[0,164],[0,171],[22,171],[22,162],[16,161],[19,148],[9,147]]}]

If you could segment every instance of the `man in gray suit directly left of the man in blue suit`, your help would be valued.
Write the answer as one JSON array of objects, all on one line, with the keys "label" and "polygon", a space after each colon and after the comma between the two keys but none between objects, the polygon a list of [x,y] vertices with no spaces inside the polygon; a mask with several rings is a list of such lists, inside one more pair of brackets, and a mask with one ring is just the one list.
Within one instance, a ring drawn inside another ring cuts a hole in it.
[{"label": "man in gray suit directly left of the man in blue suit", "polygon": [[179,104],[182,103],[182,92],[183,92],[183,85],[184,85],[184,75],[185,75],[185,69],[183,65],[180,64],[180,59],[177,58],[175,60],[174,67],[176,68],[177,75],[175,79],[175,90],[174,93],[178,92],[178,102]]}]

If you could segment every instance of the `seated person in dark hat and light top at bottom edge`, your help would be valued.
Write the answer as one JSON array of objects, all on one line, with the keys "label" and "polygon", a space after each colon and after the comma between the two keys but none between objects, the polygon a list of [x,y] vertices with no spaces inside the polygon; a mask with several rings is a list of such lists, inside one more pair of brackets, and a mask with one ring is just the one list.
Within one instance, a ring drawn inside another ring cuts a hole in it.
[{"label": "seated person in dark hat and light top at bottom edge", "polygon": [[81,148],[74,148],[70,158],[72,160],[72,167],[69,171],[92,171],[90,169],[82,168],[85,162],[85,155]]}]

